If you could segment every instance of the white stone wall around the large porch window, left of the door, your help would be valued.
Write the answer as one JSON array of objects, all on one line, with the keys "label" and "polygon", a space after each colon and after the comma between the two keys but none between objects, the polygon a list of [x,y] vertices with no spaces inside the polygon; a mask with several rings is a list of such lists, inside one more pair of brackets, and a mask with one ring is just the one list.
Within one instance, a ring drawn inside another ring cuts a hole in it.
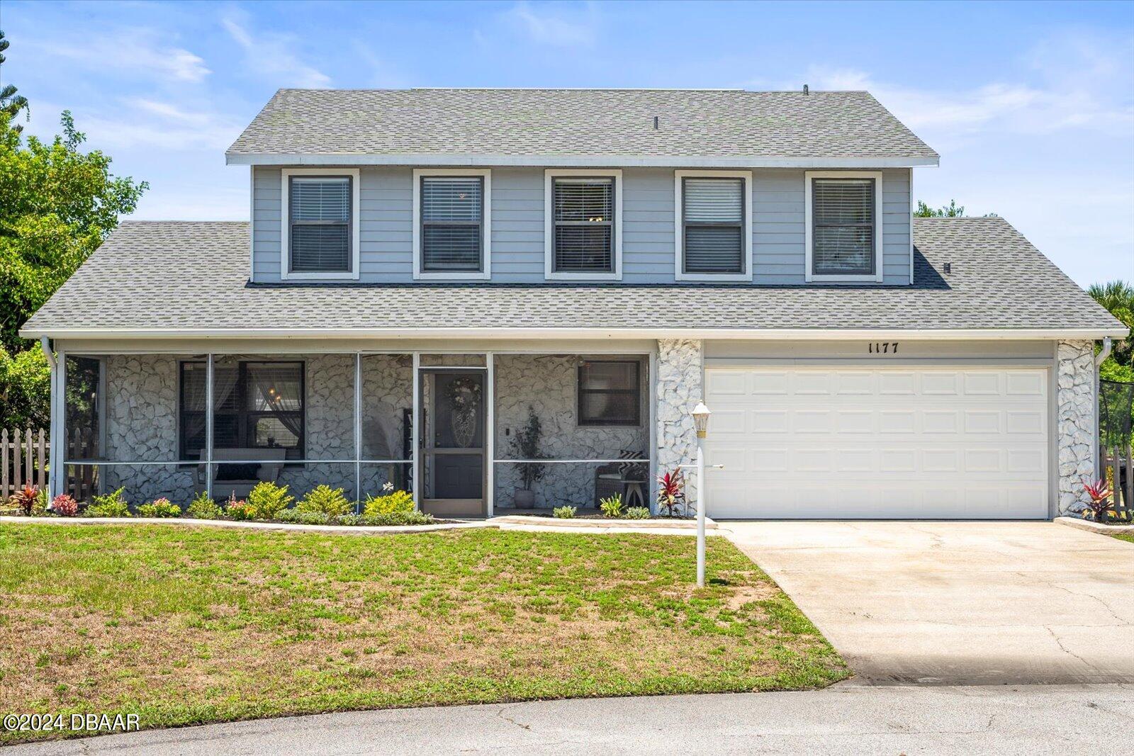
[{"label": "white stone wall around the large porch window, left of the door", "polygon": [[[354,458],[354,355],[272,355],[245,359],[303,360],[306,364],[307,459]],[[167,461],[164,466],[107,466],[104,490],[126,486],[134,504],[158,496],[188,502],[197,492],[196,468],[178,467],[178,363],[174,355],[107,357],[107,457],[110,460]],[[218,363],[227,358],[217,358]],[[363,456],[403,458],[403,409],[412,405],[411,358],[406,355],[364,356]],[[406,466],[408,468],[408,466]],[[286,467],[279,483],[302,496],[329,484],[354,498],[355,466],[308,464]],[[393,477],[391,466],[364,465],[362,495],[376,493]],[[222,483],[214,496],[223,498]]]}]

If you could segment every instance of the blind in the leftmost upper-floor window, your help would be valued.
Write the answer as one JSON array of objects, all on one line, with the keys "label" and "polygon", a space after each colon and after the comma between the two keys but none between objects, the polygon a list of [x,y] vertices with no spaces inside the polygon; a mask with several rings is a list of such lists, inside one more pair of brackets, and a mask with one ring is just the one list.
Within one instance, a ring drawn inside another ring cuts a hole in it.
[{"label": "blind in the leftmost upper-floor window", "polygon": [[350,270],[350,179],[295,177],[288,197],[291,270]]}]

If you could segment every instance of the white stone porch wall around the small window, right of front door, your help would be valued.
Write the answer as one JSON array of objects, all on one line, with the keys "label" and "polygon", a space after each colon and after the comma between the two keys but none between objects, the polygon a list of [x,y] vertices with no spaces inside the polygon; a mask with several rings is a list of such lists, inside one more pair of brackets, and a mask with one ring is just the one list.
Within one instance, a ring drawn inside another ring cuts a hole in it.
[{"label": "white stone porch wall around the small window, right of front door", "polygon": [[[527,424],[531,407],[543,427],[541,450],[550,459],[617,459],[623,449],[649,456],[649,359],[641,358],[642,407],[636,427],[579,426],[577,422],[577,368],[579,355],[497,355],[496,444],[497,459],[515,459],[511,442]],[[590,357],[618,359],[613,355]],[[621,359],[625,359],[621,358]],[[549,464],[538,481],[535,506],[592,507],[594,474],[599,465]],[[519,465],[496,466],[497,509],[513,507],[523,485]]]}]

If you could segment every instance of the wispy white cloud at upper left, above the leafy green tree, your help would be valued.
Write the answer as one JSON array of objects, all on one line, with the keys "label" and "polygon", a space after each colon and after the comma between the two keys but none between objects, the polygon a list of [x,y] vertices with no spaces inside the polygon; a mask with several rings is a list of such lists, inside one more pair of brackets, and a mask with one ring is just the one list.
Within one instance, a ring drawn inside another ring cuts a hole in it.
[{"label": "wispy white cloud at upper left, above the leafy green tree", "polygon": [[52,42],[28,41],[27,44],[91,67],[166,82],[196,83],[211,73],[201,57],[162,43],[154,29],[130,27],[111,34],[90,34]]}]

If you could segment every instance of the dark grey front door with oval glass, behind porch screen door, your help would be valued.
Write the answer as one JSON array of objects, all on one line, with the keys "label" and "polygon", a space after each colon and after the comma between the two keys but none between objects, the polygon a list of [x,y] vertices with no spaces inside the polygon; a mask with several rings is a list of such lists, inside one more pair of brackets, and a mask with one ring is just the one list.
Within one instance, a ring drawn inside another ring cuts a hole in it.
[{"label": "dark grey front door with oval glass, behind porch screen door", "polygon": [[422,371],[422,509],[484,515],[484,371]]}]

